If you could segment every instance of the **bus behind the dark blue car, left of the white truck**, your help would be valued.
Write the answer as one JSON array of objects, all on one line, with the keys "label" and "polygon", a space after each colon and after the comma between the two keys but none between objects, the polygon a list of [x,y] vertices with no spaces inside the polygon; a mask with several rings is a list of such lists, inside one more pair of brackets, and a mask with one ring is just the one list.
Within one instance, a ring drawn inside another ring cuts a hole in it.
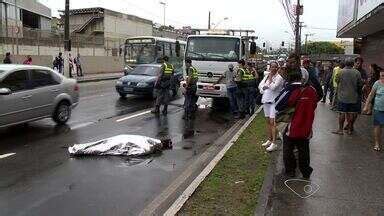
[{"label": "bus behind the dark blue car, left of the white truck", "polygon": [[124,74],[140,64],[156,64],[164,55],[169,57],[175,71],[183,67],[186,42],[170,38],[142,36],[131,37],[124,44]]}]

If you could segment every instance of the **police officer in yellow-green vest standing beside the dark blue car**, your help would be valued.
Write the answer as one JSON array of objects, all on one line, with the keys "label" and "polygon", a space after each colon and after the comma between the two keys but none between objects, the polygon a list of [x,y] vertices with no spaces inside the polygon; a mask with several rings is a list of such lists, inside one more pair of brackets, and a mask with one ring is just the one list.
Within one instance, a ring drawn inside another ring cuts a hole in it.
[{"label": "police officer in yellow-green vest standing beside the dark blue car", "polygon": [[154,114],[160,113],[160,106],[163,104],[163,114],[167,115],[168,113],[168,103],[171,98],[171,80],[175,72],[172,64],[168,63],[168,56],[163,57],[163,65],[161,66],[161,71],[157,77],[155,88],[157,89],[157,97],[155,102],[155,108],[151,111]]}]

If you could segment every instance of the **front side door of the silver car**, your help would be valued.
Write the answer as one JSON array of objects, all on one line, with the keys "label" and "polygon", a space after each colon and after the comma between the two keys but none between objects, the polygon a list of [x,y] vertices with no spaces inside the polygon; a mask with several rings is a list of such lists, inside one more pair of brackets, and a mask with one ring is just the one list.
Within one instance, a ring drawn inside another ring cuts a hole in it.
[{"label": "front side door of the silver car", "polygon": [[0,81],[0,88],[12,91],[9,95],[0,95],[0,127],[30,119],[32,95],[28,71],[19,70],[8,74]]}]

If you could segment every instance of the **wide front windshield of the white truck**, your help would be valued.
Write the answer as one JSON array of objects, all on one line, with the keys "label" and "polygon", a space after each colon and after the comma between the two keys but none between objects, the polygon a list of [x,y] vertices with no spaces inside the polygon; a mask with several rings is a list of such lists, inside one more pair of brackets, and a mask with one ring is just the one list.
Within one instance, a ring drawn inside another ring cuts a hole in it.
[{"label": "wide front windshield of the white truck", "polygon": [[226,37],[189,38],[186,57],[198,61],[239,60],[240,39]]}]

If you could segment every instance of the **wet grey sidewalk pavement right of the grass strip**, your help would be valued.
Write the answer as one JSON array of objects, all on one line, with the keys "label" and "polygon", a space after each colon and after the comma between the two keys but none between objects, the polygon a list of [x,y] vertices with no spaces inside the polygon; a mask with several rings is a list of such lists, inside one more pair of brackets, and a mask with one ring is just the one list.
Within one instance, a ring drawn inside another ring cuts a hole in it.
[{"label": "wet grey sidewalk pavement right of the grass strip", "polygon": [[332,134],[337,122],[319,104],[311,140],[311,184],[319,190],[312,196],[300,198],[285,186],[282,151],[276,153],[266,215],[384,215],[384,153],[372,149],[371,117],[361,116],[352,136]]}]

